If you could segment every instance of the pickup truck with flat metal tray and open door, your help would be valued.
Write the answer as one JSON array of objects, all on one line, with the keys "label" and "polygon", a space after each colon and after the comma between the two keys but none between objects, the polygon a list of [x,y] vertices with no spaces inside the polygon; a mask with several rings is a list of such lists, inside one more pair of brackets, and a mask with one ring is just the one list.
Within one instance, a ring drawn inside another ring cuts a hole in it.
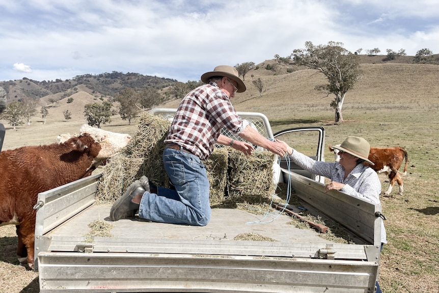
[{"label": "pickup truck with flat metal tray and open door", "polygon": [[[173,111],[153,113],[169,118]],[[323,127],[273,134],[265,115],[238,114],[267,139],[279,138],[324,160]],[[292,218],[285,212],[265,221],[235,208],[213,208],[204,227],[122,219],[110,222],[112,236],[90,241],[88,224],[107,221],[111,208],[95,202],[100,178],[95,174],[38,195],[35,271],[41,293],[374,292],[381,206],[339,191],[325,193],[324,178],[285,157],[275,157],[273,181],[283,182],[302,210],[342,226],[349,244],[320,237],[314,229],[296,228],[288,224]],[[295,206],[288,209],[300,212]],[[275,241],[234,240],[241,233]]]}]

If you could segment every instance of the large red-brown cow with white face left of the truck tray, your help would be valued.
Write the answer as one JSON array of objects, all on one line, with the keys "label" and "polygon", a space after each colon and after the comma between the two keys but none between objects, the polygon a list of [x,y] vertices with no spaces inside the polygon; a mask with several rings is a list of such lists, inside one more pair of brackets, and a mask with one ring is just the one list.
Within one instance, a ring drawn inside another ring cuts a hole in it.
[{"label": "large red-brown cow with white face left of the truck tray", "polygon": [[24,146],[0,154],[0,226],[17,226],[17,257],[33,269],[38,193],[89,176],[131,137],[84,125],[62,143]]}]

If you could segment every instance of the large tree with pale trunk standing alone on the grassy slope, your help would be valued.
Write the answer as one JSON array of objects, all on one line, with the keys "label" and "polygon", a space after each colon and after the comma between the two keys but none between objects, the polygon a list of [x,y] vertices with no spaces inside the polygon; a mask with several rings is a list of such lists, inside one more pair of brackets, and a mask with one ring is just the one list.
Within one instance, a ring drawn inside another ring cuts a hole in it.
[{"label": "large tree with pale trunk standing alone on the grassy slope", "polygon": [[305,49],[294,49],[292,56],[297,65],[318,70],[326,76],[329,83],[316,86],[315,89],[335,95],[331,102],[335,109],[335,122],[343,122],[342,108],[346,93],[362,75],[359,56],[343,48],[340,42],[315,46],[310,41],[305,42]]}]

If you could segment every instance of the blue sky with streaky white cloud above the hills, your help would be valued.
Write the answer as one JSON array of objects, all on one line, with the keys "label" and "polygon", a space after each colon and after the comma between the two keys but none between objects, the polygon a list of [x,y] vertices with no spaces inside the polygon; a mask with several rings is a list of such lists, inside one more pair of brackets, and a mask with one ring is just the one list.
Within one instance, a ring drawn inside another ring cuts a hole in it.
[{"label": "blue sky with streaky white cloud above the hills", "polygon": [[305,42],[439,53],[437,0],[0,0],[0,81],[135,72],[199,81]]}]

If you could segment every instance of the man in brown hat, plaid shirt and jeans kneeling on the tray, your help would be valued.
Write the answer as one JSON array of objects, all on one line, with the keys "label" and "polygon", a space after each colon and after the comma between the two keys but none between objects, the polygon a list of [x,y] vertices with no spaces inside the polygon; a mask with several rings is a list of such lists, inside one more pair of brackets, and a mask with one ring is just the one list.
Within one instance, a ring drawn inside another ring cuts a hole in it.
[{"label": "man in brown hat, plaid shirt and jeans kneeling on the tray", "polygon": [[[287,146],[267,140],[242,120],[230,98],[246,90],[238,71],[220,65],[201,76],[206,83],[189,92],[180,102],[164,143],[164,168],[175,190],[150,188],[148,178],[134,181],[114,203],[110,218],[121,219],[139,209],[139,217],[155,222],[204,226],[210,220],[209,180],[202,162],[216,143],[252,154],[252,144],[283,156]],[[250,142],[236,141],[221,134],[226,127]]]}]

